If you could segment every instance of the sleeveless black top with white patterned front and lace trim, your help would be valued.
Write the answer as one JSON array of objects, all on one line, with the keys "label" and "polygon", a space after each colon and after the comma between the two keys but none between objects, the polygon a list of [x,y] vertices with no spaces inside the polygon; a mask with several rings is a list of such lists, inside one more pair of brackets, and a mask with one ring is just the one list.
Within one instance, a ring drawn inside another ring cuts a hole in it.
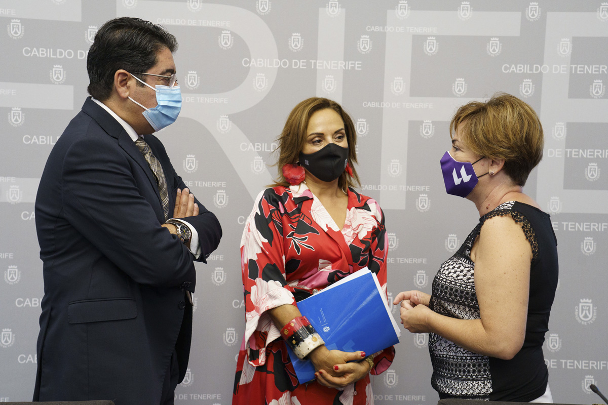
[{"label": "sleeveless black top with white patterned front and lace trim", "polygon": [[469,352],[429,333],[431,385],[442,399],[527,402],[543,395],[547,387],[542,344],[558,283],[557,240],[548,214],[524,203],[507,202],[482,216],[460,249],[441,265],[433,281],[430,308],[452,318],[480,318],[471,248],[486,220],[507,215],[522,226],[533,255],[523,347],[513,359],[502,360]]}]

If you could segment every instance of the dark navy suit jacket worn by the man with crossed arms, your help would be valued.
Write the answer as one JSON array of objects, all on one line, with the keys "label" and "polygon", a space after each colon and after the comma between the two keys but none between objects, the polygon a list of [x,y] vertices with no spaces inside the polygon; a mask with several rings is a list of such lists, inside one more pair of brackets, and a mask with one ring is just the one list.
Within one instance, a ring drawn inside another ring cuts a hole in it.
[{"label": "dark navy suit jacket worn by the man with crossed arms", "polygon": [[[146,135],[167,177],[170,215],[185,185],[164,146]],[[221,227],[198,202],[185,218],[204,262]],[[194,291],[193,255],[161,226],[156,179],[120,124],[88,98],[63,132],[35,205],[44,298],[35,401],[158,404],[171,354],[186,372]],[[179,336],[179,339],[178,339]]]}]

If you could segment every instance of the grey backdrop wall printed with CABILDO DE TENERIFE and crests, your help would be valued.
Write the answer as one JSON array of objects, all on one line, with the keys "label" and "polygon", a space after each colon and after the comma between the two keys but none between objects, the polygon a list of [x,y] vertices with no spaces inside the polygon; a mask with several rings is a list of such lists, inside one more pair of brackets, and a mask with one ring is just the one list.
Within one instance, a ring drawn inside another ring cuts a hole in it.
[{"label": "grey backdrop wall printed with CABILDO DE TENERIFE and crests", "polygon": [[[289,111],[315,95],[356,122],[361,191],[385,211],[391,296],[429,292],[477,222],[474,205],[442,183],[455,107],[502,90],[536,109],[545,154],[525,191],[551,214],[561,265],[544,347],[550,387],[562,403],[597,402],[590,383],[608,391],[608,2],[0,0],[0,402],[32,395],[43,296],[36,188],[85,100],[95,31],[116,16],[178,38],[184,106],[159,137],[224,227],[209,264],[197,265],[177,403],[231,401],[244,219],[276,173],[271,151]],[[373,378],[376,403],[434,404],[427,335],[404,331],[396,351]]]}]

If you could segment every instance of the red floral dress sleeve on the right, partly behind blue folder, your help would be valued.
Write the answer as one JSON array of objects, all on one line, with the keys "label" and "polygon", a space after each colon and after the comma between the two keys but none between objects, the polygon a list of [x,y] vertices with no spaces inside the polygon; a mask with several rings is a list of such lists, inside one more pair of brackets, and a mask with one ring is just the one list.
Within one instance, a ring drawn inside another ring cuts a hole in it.
[{"label": "red floral dress sleeve on the right, partly behind blue folder", "polygon": [[[386,282],[387,282],[387,270],[386,270],[386,259],[389,253],[389,236],[386,233],[384,227],[384,214],[382,209],[375,200],[368,200],[368,206],[370,206],[371,214],[376,217],[378,223],[376,229],[373,231],[370,244],[370,265],[368,266],[371,271],[376,273],[378,282],[384,294],[387,294]],[[374,354],[374,367],[371,368],[370,373],[372,375],[378,375],[387,370],[395,358],[395,347],[387,347],[379,353]]]}]

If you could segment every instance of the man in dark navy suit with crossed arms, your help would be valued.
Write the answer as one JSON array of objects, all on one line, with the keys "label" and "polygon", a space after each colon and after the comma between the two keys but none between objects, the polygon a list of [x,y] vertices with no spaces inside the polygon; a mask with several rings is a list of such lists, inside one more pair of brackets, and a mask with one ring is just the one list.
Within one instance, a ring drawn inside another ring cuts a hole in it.
[{"label": "man in dark navy suit with crossed arms", "polygon": [[35,401],[173,404],[184,378],[193,260],[205,262],[222,232],[150,135],[181,108],[177,46],[160,26],[117,18],[89,50],[92,98],[55,144],[36,196]]}]

